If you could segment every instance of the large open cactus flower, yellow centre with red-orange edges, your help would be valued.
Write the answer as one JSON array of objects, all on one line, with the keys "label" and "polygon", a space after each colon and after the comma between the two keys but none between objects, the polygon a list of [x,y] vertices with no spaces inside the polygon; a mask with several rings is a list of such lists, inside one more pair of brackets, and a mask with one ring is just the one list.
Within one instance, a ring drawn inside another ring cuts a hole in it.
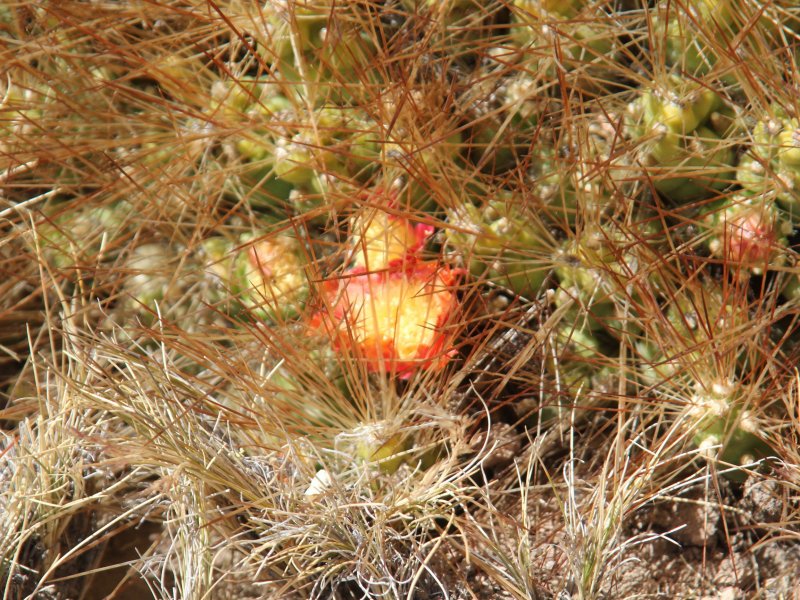
[{"label": "large open cactus flower, yellow centre with red-orange edges", "polygon": [[335,333],[335,344],[356,349],[371,371],[408,378],[438,369],[453,356],[444,326],[458,306],[450,289],[458,272],[413,257],[383,271],[355,267],[328,280],[327,310],[315,317]]}]

